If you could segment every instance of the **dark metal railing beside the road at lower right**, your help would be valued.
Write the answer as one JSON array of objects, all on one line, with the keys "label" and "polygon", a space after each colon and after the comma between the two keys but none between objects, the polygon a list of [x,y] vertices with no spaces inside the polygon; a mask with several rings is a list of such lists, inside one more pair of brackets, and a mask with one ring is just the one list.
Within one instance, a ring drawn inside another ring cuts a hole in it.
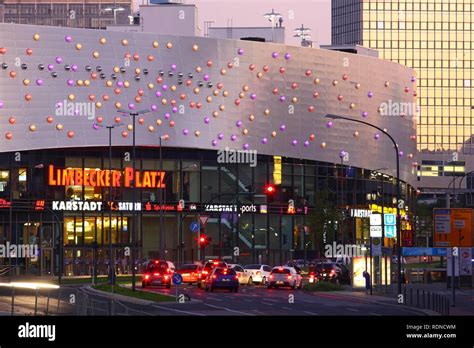
[{"label": "dark metal railing beside the road at lower right", "polygon": [[441,315],[449,315],[449,296],[423,289],[403,287],[404,304],[416,308],[428,309]]}]

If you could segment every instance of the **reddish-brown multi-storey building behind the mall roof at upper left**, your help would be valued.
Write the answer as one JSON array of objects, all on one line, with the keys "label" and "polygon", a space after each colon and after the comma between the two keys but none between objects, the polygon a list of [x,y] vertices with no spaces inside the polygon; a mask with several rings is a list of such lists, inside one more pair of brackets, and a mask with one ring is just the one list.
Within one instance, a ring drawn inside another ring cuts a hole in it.
[{"label": "reddish-brown multi-storey building behind the mall roof at upper left", "polygon": [[126,24],[131,0],[1,0],[0,22],[105,29]]}]

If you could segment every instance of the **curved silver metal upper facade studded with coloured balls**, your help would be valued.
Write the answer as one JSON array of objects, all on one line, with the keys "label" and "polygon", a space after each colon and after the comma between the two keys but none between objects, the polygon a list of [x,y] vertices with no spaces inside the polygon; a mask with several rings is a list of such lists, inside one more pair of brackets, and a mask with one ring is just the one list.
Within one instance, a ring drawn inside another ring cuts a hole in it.
[{"label": "curved silver metal upper facade studded with coloured balls", "polygon": [[[121,106],[152,110],[137,122],[137,145],[156,146],[167,134],[164,146],[327,162],[346,151],[349,165],[395,167],[383,134],[377,140],[370,127],[346,121],[328,126],[331,113],[387,128],[403,152],[401,178],[416,180],[413,115],[378,112],[382,103],[415,102],[415,73],[402,65],[269,43],[14,24],[0,24],[0,47],[2,152],[108,145],[93,124],[100,116],[113,123]],[[112,141],[129,146],[132,132],[115,129]]]}]

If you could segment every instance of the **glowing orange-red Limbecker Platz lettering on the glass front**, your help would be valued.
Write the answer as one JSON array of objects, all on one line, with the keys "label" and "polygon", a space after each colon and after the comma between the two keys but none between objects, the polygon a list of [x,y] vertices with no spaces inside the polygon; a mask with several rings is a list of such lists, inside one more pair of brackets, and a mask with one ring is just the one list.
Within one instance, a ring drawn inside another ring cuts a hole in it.
[{"label": "glowing orange-red Limbecker Platz lettering on the glass front", "polygon": [[90,186],[90,187],[132,187],[135,180],[137,188],[165,188],[165,172],[154,170],[135,170],[126,167],[122,170],[48,168],[50,186]]}]

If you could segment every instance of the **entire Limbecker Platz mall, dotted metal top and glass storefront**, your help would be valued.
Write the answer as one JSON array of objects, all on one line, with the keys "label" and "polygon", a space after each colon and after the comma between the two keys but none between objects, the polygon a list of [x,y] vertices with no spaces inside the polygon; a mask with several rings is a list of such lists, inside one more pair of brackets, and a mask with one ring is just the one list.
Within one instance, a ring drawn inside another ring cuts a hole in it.
[{"label": "entire Limbecker Platz mall, dotted metal top and glass storefront", "polygon": [[[199,217],[204,256],[244,264],[368,243],[368,215],[397,203],[395,150],[326,114],[397,141],[402,239],[413,240],[411,69],[323,49],[13,24],[0,24],[0,60],[0,241],[39,247],[12,261],[22,273],[105,273],[110,238],[121,269],[129,248],[139,262],[197,260]],[[340,225],[315,223],[330,207]]]}]

